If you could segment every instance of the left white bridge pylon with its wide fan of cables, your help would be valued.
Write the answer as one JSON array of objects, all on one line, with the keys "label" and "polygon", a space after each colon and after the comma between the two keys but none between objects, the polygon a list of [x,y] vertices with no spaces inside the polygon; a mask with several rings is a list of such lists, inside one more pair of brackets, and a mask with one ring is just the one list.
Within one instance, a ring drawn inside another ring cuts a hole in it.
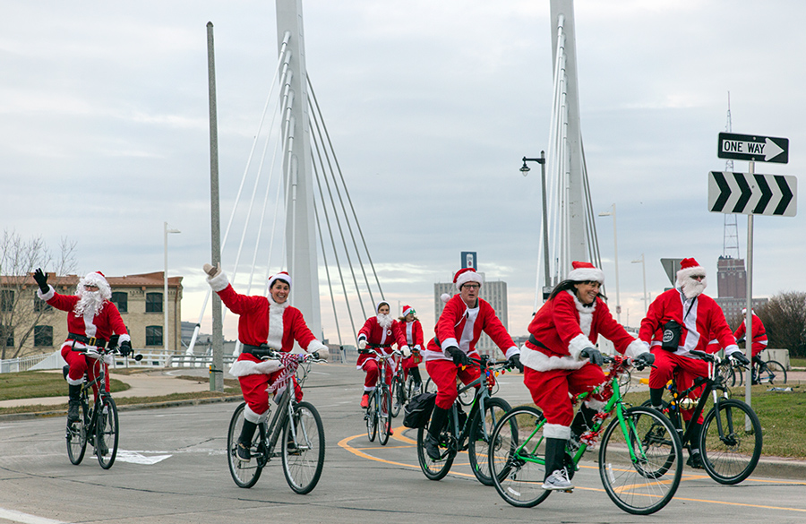
[{"label": "left white bridge pylon with its wide fan of cables", "polygon": [[[237,292],[263,296],[269,294],[265,286],[269,277],[288,271],[293,281],[289,300],[303,313],[313,334],[339,346],[357,345],[356,321],[363,323],[374,314],[375,300],[383,299],[383,292],[305,71],[302,24],[301,0],[277,0],[278,63],[221,239],[222,269]],[[251,196],[245,202],[244,187],[250,182]],[[227,185],[226,174],[221,185]],[[259,213],[256,205],[261,206]],[[236,248],[227,243],[234,228],[241,230]],[[244,255],[251,255],[251,261],[243,262]],[[262,274],[262,285],[255,285],[256,273]],[[322,331],[322,281],[335,333]],[[188,355],[194,352],[209,298],[210,291]],[[345,318],[351,331],[348,339],[339,327]],[[235,354],[239,351],[238,344]]]}]

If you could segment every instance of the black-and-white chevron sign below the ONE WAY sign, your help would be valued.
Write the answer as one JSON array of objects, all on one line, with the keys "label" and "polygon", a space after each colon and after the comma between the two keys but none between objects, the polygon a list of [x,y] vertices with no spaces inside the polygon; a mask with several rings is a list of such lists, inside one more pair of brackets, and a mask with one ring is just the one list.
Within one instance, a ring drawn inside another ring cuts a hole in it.
[{"label": "black-and-white chevron sign below the ONE WAY sign", "polygon": [[797,194],[796,176],[708,173],[708,210],[713,213],[793,217]]}]

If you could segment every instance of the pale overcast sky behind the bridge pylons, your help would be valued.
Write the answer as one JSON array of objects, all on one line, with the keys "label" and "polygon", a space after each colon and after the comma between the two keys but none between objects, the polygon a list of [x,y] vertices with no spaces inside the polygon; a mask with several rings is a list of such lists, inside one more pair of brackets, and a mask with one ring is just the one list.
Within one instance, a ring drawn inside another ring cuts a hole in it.
[{"label": "pale overcast sky behind the bridge pylons", "polygon": [[[52,248],[67,237],[79,272],[123,276],[162,271],[167,221],[182,231],[169,237],[169,274],[184,277],[182,316],[195,322],[210,259],[206,24],[215,25],[225,220],[277,60],[274,3],[2,6],[3,227]],[[650,298],[669,285],[659,260],[686,256],[706,267],[716,296],[725,216],[707,210],[707,173],[725,168],[716,136],[728,91],[734,133],[790,139],[789,164],[757,163],[756,172],[804,170],[806,4],[575,8],[593,202],[597,213],[616,204],[622,322],[636,325],[643,281],[631,261],[642,253]],[[433,283],[450,279],[459,252],[476,251],[487,279],[509,285],[510,332],[527,332],[539,171],[534,164],[525,178],[518,169],[547,148],[549,11],[547,0],[304,1],[308,73],[384,293],[393,309],[414,305],[426,331]],[[745,215],[738,224],[744,258]],[[596,225],[613,304],[613,220]],[[803,290],[794,269],[803,266],[803,213],[757,217],[754,233],[754,295]]]}]

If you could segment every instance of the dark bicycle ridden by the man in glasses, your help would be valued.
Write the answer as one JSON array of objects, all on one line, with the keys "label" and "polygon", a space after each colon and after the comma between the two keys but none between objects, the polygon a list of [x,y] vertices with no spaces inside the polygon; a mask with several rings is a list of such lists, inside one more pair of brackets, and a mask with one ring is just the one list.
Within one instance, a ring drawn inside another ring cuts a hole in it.
[{"label": "dark bicycle ridden by the man in glasses", "polygon": [[[459,454],[466,451],[470,459],[470,468],[479,482],[484,485],[493,485],[490,476],[486,455],[490,442],[497,441],[492,438],[493,428],[499,420],[510,410],[510,404],[501,398],[493,397],[492,391],[497,387],[495,375],[509,368],[507,360],[493,361],[490,356],[482,355],[480,358],[468,357],[481,371],[480,376],[473,382],[459,387],[459,396],[450,407],[448,422],[442,428],[439,436],[440,459],[433,460],[425,451],[425,437],[431,420],[424,427],[417,429],[417,460],[425,477],[430,480],[441,480],[448,475],[450,466]],[[470,412],[466,415],[460,400],[463,393],[472,392],[469,402]]]}]

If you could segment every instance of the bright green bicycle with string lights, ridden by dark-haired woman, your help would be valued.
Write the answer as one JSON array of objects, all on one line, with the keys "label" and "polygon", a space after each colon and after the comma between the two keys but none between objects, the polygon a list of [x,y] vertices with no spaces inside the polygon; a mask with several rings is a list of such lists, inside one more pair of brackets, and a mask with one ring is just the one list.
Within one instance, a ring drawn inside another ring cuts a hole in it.
[{"label": "bright green bicycle with string lights, ridden by dark-haired woman", "polygon": [[[682,444],[669,420],[653,408],[629,407],[622,398],[620,375],[631,365],[628,358],[605,356],[607,381],[590,394],[611,392],[593,427],[580,436],[579,449],[566,449],[569,477],[579,470],[588,446],[601,436],[598,468],[604,491],[623,511],[647,515],[672,500],[682,477]],[[586,399],[577,395],[574,401]],[[613,420],[604,429],[604,421]],[[532,406],[513,408],[495,426],[489,469],[493,485],[513,506],[530,508],[542,503],[545,444],[543,413]],[[603,431],[604,430],[604,431]]]}]

